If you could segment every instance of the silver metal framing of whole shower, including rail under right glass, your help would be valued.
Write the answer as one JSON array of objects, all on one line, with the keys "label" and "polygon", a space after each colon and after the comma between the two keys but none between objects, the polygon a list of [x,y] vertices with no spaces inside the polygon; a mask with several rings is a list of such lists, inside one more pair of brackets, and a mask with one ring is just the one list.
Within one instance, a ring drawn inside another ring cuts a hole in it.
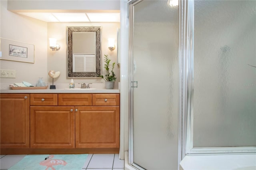
[{"label": "silver metal framing of whole shower, including rail under right glass", "polygon": [[[128,0],[129,16],[129,150],[128,163],[143,169],[134,163],[133,158],[133,35],[132,4],[142,0]],[[194,0],[179,0],[179,110],[178,110],[178,165],[186,155],[256,153],[256,147],[193,147],[193,96],[194,96]]]}]

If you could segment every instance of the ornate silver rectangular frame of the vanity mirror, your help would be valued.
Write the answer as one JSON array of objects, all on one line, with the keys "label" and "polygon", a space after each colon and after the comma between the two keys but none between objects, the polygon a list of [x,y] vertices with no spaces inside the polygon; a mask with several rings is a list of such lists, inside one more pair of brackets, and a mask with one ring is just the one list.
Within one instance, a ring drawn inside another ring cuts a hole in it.
[{"label": "ornate silver rectangular frame of the vanity mirror", "polygon": [[[67,27],[67,77],[97,77],[100,75],[101,63],[101,27]],[[72,32],[96,32],[96,72],[73,72]]]}]

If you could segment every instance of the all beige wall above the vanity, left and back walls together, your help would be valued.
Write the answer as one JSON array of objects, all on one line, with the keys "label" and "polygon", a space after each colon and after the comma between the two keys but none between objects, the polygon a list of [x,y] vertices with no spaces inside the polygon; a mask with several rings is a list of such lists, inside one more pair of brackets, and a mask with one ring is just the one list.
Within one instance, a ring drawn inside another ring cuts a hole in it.
[{"label": "all beige wall above the vanity, left and back walls together", "polygon": [[[116,38],[120,23],[47,23],[7,10],[7,1],[1,3],[0,37],[35,45],[34,63],[0,60],[1,69],[16,70],[16,78],[1,78],[1,83],[20,83],[27,81],[36,83],[38,77],[44,77],[46,83],[51,83],[49,70],[60,71],[60,77],[54,83],[69,83],[66,66],[66,26],[101,26],[102,53],[108,54],[116,62],[116,51],[110,51],[107,45],[108,38]],[[60,45],[59,51],[51,51],[48,38],[56,38]],[[116,82],[120,81],[120,69],[116,66]],[[102,74],[104,74],[103,72]],[[99,77],[76,79],[75,83],[103,83]]]}]

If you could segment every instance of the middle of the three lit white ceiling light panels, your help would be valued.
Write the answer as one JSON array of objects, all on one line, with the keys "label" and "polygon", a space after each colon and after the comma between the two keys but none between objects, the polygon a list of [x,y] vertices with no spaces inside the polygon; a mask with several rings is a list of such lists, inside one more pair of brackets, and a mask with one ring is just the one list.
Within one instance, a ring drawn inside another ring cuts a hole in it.
[{"label": "middle of the three lit white ceiling light panels", "polygon": [[89,22],[85,13],[52,13],[60,22]]}]

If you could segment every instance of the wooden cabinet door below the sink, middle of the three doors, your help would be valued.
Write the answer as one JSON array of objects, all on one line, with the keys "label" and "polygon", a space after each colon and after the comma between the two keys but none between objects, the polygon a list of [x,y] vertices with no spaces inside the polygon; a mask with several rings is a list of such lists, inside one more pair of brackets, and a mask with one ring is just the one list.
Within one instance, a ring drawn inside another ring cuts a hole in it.
[{"label": "wooden cabinet door below the sink, middle of the three doors", "polygon": [[31,148],[74,148],[74,107],[31,106]]}]

